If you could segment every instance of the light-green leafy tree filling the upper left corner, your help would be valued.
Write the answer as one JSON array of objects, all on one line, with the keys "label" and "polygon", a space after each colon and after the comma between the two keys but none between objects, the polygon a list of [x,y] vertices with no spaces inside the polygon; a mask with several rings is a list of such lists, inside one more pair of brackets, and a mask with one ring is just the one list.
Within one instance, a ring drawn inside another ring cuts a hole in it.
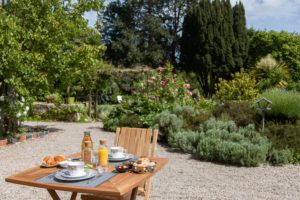
[{"label": "light-green leafy tree filling the upper left corner", "polygon": [[[32,101],[65,91],[66,83],[88,85],[81,82],[101,67],[105,47],[95,42],[100,34],[88,27],[83,13],[101,6],[101,0],[10,1],[0,10],[0,96]],[[2,119],[9,117],[2,111]],[[8,130],[6,120],[3,127],[7,133],[16,126]]]}]

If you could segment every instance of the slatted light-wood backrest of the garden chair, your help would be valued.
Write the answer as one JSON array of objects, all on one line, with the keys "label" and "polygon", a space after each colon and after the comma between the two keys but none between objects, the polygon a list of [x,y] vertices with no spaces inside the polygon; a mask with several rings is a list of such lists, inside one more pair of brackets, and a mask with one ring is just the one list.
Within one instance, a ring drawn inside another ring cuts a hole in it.
[{"label": "slatted light-wood backrest of the garden chair", "polygon": [[117,128],[115,146],[124,147],[128,153],[138,157],[154,157],[158,131],[143,128]]}]

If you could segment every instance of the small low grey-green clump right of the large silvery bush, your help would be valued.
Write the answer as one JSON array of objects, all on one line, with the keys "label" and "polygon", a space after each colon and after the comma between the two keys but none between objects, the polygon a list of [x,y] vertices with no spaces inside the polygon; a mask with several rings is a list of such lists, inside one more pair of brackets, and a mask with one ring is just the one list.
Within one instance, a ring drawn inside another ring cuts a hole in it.
[{"label": "small low grey-green clump right of the large silvery bush", "polygon": [[285,165],[293,162],[293,152],[289,149],[272,149],[268,161],[272,165]]}]

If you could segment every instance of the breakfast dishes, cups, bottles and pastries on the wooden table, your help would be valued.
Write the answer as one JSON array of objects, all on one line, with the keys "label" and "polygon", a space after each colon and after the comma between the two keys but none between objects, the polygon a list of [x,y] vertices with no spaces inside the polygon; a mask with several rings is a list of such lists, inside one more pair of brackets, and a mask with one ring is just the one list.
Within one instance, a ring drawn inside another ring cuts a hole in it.
[{"label": "breakfast dishes, cups, bottles and pastries on the wooden table", "polygon": [[[62,168],[55,172],[54,180],[57,182],[79,182],[111,172],[146,173],[154,171],[155,162],[147,157],[137,158],[133,154],[127,153],[127,150],[121,146],[113,146],[108,149],[106,140],[99,141],[98,149],[93,146],[90,132],[84,132],[80,157],[45,156],[41,168]],[[114,168],[112,168],[113,166]]]}]

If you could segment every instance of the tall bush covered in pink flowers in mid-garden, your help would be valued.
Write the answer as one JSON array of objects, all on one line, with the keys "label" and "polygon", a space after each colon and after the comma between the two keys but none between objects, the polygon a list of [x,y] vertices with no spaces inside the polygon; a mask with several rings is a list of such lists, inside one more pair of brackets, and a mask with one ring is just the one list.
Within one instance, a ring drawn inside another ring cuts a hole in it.
[{"label": "tall bush covered in pink flowers in mid-garden", "polygon": [[193,101],[192,86],[173,73],[173,66],[167,63],[158,67],[150,77],[136,84],[136,94],[149,101],[188,104]]}]

